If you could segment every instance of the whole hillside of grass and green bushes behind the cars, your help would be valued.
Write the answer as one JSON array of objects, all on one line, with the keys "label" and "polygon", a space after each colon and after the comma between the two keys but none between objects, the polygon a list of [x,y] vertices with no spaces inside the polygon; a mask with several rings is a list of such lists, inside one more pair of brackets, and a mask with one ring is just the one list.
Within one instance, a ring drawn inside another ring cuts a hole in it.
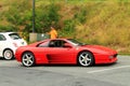
[{"label": "whole hillside of grass and green bushes behind the cars", "polygon": [[[0,10],[0,15],[3,16],[0,27],[9,25],[12,28],[13,25],[13,28],[22,29],[21,31],[31,29],[31,1],[26,2],[28,4],[23,10],[21,6],[20,11],[16,10],[17,17],[23,18],[17,18],[13,23],[6,20],[4,15],[9,6],[10,11],[12,6],[15,8],[12,4],[16,1],[12,0],[11,3],[0,1],[0,4],[5,5]],[[10,14],[13,15],[12,12]],[[75,38],[88,44],[105,45],[120,53],[130,53],[128,0],[36,0],[36,15],[37,32],[47,32],[50,25],[54,25],[58,29],[60,37]]]}]

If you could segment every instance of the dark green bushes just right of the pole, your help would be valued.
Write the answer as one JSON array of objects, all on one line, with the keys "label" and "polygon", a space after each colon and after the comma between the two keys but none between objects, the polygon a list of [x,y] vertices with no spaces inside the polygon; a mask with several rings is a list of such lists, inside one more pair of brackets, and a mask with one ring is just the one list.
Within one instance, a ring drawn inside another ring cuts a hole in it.
[{"label": "dark green bushes just right of the pole", "polygon": [[36,10],[37,32],[47,32],[50,30],[51,26],[58,26],[58,6],[56,6],[54,3],[46,6],[40,5],[39,9]]}]

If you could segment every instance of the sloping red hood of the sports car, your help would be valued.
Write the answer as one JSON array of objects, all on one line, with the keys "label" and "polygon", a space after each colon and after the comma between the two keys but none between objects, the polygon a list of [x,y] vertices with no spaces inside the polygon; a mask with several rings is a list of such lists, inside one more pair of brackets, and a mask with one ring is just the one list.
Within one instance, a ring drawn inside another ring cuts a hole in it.
[{"label": "sloping red hood of the sports car", "polygon": [[101,46],[101,45],[84,45],[81,46],[82,48],[87,48],[93,53],[103,53],[103,54],[117,54],[116,51],[105,47],[105,46]]}]

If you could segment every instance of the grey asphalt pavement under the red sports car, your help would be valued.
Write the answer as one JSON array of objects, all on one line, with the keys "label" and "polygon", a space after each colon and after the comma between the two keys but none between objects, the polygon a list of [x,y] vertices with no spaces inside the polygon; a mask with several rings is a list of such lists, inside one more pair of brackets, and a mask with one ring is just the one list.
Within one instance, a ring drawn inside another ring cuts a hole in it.
[{"label": "grey asphalt pavement under the red sports car", "polygon": [[37,66],[0,59],[0,86],[130,86],[130,56],[93,67]]}]

